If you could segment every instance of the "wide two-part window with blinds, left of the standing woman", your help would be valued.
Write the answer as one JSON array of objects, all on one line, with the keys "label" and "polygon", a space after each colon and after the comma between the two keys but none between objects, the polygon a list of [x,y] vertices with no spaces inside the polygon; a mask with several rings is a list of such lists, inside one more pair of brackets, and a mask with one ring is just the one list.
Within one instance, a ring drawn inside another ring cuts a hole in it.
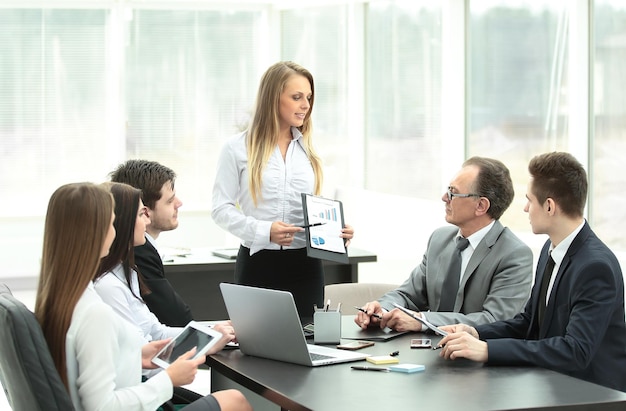
[{"label": "wide two-part window with blinds, left of the standing woman", "polygon": [[254,104],[261,15],[0,9],[0,187],[20,198],[0,215],[43,215],[58,186],[127,158],[173,168],[187,209],[208,209],[222,143]]}]

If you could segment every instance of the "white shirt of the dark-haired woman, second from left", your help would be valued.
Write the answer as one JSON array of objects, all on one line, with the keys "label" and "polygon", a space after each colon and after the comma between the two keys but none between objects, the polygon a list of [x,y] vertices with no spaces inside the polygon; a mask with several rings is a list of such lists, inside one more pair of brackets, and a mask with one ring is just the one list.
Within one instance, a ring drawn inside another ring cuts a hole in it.
[{"label": "white shirt of the dark-haired woman, second from left", "polygon": [[128,288],[122,264],[118,264],[113,270],[98,278],[94,282],[94,287],[102,301],[110,305],[113,311],[137,326],[145,342],[164,340],[178,335],[182,328],[161,324],[141,297],[135,297],[140,296],[140,293],[137,272],[134,270],[131,271],[130,282],[135,295]]}]

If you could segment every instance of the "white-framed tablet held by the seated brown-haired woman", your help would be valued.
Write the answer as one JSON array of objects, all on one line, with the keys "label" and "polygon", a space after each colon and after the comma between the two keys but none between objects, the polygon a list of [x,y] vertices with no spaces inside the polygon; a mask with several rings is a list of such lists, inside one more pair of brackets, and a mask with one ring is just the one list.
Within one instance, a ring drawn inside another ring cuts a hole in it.
[{"label": "white-framed tablet held by the seated brown-haired woman", "polygon": [[152,362],[162,368],[167,368],[178,357],[196,347],[196,354],[192,358],[204,355],[222,338],[222,333],[206,325],[190,321],[176,337],[172,338],[161,351],[152,359]]}]

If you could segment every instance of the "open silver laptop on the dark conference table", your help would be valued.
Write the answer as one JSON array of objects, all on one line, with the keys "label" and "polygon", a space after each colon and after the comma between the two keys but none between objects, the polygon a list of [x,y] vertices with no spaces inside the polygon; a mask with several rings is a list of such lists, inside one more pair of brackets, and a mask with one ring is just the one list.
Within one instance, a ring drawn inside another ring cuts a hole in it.
[{"label": "open silver laptop on the dark conference table", "polygon": [[368,354],[307,344],[291,293],[221,283],[244,354],[315,367],[364,360]]}]

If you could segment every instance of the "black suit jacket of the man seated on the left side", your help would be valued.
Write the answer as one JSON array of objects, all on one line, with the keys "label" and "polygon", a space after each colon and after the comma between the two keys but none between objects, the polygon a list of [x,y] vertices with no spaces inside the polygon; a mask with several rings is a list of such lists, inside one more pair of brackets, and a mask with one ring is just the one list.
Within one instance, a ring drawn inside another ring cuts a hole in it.
[{"label": "black suit jacket of the man seated on the left side", "polygon": [[191,309],[165,278],[159,252],[150,241],[135,247],[135,263],[150,293],[142,294],[146,305],[159,321],[170,327],[184,327],[193,318]]}]

